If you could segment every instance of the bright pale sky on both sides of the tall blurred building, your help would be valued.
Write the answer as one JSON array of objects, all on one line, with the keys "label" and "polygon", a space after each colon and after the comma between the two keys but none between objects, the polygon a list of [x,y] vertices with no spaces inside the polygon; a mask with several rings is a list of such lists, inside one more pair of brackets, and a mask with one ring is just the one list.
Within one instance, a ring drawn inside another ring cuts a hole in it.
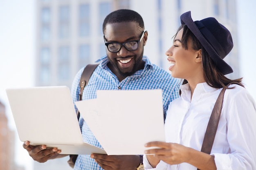
[{"label": "bright pale sky on both sides of the tall blurred building", "polygon": [[[256,99],[256,0],[237,1],[241,76],[244,77],[243,83],[247,90]],[[0,0],[0,101],[6,106],[12,130],[15,130],[15,125],[5,89],[34,85],[35,2],[36,0]],[[16,150],[16,163],[26,166],[26,170],[32,170],[32,159],[18,139]]]}]

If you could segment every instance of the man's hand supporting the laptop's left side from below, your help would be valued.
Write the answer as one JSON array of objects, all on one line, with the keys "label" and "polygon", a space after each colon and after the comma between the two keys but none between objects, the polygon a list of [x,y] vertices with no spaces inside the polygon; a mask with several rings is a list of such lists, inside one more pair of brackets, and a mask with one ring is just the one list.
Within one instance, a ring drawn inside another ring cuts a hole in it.
[{"label": "man's hand supporting the laptop's left side from below", "polygon": [[61,153],[61,150],[58,150],[57,148],[46,148],[46,145],[29,145],[28,141],[23,143],[23,148],[27,150],[29,156],[40,163],[46,162],[49,159],[54,159]]}]

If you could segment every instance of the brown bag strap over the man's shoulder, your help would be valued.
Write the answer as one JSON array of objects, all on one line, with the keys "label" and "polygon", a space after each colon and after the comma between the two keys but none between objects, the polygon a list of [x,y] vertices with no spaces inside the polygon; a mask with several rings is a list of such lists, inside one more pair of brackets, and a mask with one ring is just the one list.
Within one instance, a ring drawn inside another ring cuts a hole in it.
[{"label": "brown bag strap over the man's shoulder", "polygon": [[[80,86],[80,93],[79,93],[79,98],[78,98],[78,100],[82,100],[83,89],[84,89],[84,87],[88,84],[89,79],[90,79],[92,73],[94,72],[94,70],[97,68],[98,65],[99,65],[99,64],[88,64],[88,65],[86,65],[86,67],[84,68],[83,73],[82,73],[81,78],[80,78],[80,83],[79,83],[79,86]],[[79,118],[80,118],[80,113],[79,113],[78,110],[77,110],[77,112],[76,112],[76,116],[77,116],[77,119],[79,120]]]}]

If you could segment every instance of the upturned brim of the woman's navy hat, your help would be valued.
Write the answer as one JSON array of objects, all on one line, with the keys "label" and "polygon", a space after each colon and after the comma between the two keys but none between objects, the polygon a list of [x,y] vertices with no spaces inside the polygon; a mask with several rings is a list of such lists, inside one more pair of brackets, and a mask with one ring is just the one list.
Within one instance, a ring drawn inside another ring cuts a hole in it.
[{"label": "upturned brim of the woman's navy hat", "polygon": [[209,42],[204,38],[204,36],[196,26],[195,22],[192,20],[191,11],[183,13],[180,16],[180,20],[182,25],[185,24],[186,26],[188,26],[189,30],[195,35],[195,37],[197,37],[205,50],[207,50],[207,52],[210,54],[211,59],[213,59],[213,61],[216,63],[216,66],[220,70],[220,72],[222,72],[223,74],[232,73],[232,68],[219,56],[216,50],[213,49]]}]

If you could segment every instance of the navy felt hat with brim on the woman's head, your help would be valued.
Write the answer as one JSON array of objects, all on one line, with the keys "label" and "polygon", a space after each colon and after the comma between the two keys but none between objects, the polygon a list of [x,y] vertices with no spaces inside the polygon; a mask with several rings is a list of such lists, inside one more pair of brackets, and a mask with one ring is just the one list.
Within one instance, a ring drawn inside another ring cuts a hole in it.
[{"label": "navy felt hat with brim on the woman's head", "polygon": [[209,17],[200,21],[193,21],[191,11],[180,16],[181,24],[188,26],[197,37],[217,68],[223,74],[233,72],[232,68],[223,60],[233,48],[233,41],[229,30],[215,18]]}]

